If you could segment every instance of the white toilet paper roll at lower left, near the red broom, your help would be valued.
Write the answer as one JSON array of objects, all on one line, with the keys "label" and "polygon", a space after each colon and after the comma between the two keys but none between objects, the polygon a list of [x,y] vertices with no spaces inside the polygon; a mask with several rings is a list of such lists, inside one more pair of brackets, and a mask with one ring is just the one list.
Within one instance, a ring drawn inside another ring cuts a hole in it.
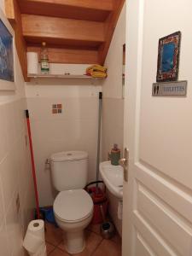
[{"label": "white toilet paper roll at lower left, near the red broom", "polygon": [[40,247],[45,247],[44,220],[32,220],[26,230],[23,247],[29,253],[37,253]]}]

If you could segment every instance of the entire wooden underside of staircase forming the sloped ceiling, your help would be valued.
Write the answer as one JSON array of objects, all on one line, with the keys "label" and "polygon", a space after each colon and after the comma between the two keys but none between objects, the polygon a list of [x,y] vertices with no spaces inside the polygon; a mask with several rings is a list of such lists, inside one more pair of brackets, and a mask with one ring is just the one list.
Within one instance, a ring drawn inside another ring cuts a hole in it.
[{"label": "entire wooden underside of staircase forming the sloped ceiling", "polygon": [[103,64],[125,0],[5,0],[27,80],[26,51],[42,42],[52,63]]}]

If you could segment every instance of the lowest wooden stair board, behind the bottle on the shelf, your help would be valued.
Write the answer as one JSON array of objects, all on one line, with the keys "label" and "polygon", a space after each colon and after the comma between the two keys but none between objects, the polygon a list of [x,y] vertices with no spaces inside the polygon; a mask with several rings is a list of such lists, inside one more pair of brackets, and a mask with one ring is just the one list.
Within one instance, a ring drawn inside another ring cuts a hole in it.
[{"label": "lowest wooden stair board, behind the bottle on the shelf", "polygon": [[[40,47],[27,47],[27,51],[38,52]],[[48,48],[50,63],[95,64],[98,63],[98,52],[90,49]]]}]

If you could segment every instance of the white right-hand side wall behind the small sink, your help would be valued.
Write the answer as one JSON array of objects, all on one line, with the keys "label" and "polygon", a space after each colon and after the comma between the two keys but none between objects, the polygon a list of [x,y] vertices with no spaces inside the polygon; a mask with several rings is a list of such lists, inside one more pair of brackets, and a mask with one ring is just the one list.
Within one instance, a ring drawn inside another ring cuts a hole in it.
[{"label": "white right-hand side wall behind the small sink", "polygon": [[[119,16],[113,34],[105,65],[108,67],[108,79],[102,84],[102,160],[108,159],[113,143],[118,143],[123,151],[124,100],[122,99],[123,44],[125,44],[125,6]],[[122,221],[117,217],[118,200],[108,192],[109,212],[119,234]]]}]

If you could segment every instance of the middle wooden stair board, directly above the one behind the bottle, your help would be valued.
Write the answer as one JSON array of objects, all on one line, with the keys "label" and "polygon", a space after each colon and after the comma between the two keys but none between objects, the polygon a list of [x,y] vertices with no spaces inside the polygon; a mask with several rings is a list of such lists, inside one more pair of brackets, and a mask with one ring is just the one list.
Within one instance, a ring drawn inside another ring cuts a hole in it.
[{"label": "middle wooden stair board, directly above the one behind the bottle", "polygon": [[[23,36],[31,42],[49,40],[53,44],[102,44],[105,42],[104,25],[102,22],[87,20],[61,19],[40,15],[21,15]],[[39,40],[38,40],[39,38]],[[57,43],[58,42],[58,43]]]}]

